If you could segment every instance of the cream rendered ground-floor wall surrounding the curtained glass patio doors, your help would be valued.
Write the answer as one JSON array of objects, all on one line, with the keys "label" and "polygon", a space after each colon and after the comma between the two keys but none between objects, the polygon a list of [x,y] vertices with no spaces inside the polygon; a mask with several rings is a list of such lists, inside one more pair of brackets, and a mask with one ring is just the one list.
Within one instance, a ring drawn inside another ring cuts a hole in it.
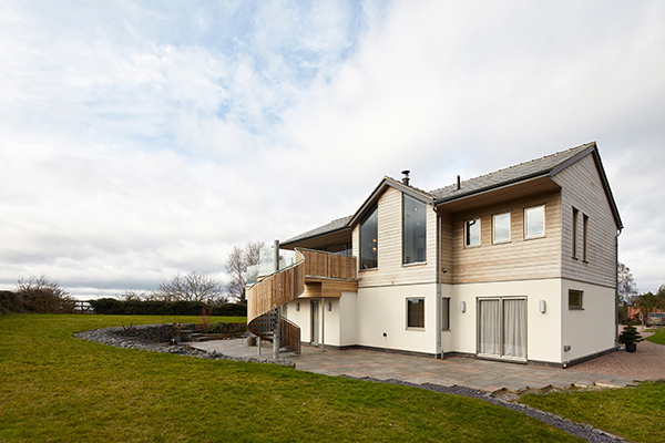
[{"label": "cream rendered ground-floor wall surrounding the curtained glass patio doors", "polygon": [[[561,288],[561,279],[454,285],[450,302],[453,351],[477,352],[479,297],[525,297],[526,359],[562,363]],[[544,313],[539,311],[540,300],[545,301]],[[460,310],[461,301],[466,312]]]}]

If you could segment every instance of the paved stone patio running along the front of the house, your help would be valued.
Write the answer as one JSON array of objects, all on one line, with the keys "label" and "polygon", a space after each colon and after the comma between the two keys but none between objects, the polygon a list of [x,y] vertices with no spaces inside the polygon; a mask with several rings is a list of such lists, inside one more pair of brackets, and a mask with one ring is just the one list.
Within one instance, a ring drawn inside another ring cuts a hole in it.
[{"label": "paved stone patio running along the front of the house", "polygon": [[[187,343],[205,351],[217,351],[234,357],[257,357],[257,347],[248,347],[244,340],[215,340]],[[272,343],[262,346],[262,358],[272,358]],[[580,372],[574,369],[555,369],[532,364],[516,364],[448,358],[437,360],[426,357],[370,351],[361,349],[337,350],[303,347],[301,356],[282,353],[280,358],[293,361],[296,369],[325,375],[370,377],[379,380],[397,379],[410,383],[433,383],[443,387],[466,387],[485,392],[508,390],[522,392],[550,388],[624,388],[635,380],[614,375]]]}]

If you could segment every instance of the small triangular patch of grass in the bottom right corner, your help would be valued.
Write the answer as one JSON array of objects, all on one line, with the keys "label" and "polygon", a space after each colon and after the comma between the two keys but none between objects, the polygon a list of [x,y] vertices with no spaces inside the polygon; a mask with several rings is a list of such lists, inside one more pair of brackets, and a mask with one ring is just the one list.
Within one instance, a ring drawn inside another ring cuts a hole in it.
[{"label": "small triangular patch of grass in the bottom right corner", "polygon": [[637,388],[522,395],[522,403],[634,442],[665,442],[665,381]]}]

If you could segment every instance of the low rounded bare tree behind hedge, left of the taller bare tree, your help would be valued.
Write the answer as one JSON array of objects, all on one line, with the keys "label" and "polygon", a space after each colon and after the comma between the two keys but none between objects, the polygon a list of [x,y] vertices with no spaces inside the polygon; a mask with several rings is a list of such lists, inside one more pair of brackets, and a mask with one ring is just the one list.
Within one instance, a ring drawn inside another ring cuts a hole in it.
[{"label": "low rounded bare tree behind hedge, left of the taller bare tree", "polygon": [[168,281],[157,284],[158,291],[155,296],[164,301],[225,301],[224,285],[209,274],[192,271],[187,275],[180,274]]}]

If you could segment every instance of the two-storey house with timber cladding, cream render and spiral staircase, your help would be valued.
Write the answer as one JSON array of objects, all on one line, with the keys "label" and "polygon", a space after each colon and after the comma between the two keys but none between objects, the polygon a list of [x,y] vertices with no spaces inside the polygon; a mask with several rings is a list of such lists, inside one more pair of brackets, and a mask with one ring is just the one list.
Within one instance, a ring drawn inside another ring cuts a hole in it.
[{"label": "two-storey house with timber cladding, cream render and spiral staircase", "polygon": [[403,173],[280,244],[293,265],[248,288],[252,330],[270,339],[279,308],[294,349],[556,367],[616,349],[623,226],[595,143],[430,192]]}]

